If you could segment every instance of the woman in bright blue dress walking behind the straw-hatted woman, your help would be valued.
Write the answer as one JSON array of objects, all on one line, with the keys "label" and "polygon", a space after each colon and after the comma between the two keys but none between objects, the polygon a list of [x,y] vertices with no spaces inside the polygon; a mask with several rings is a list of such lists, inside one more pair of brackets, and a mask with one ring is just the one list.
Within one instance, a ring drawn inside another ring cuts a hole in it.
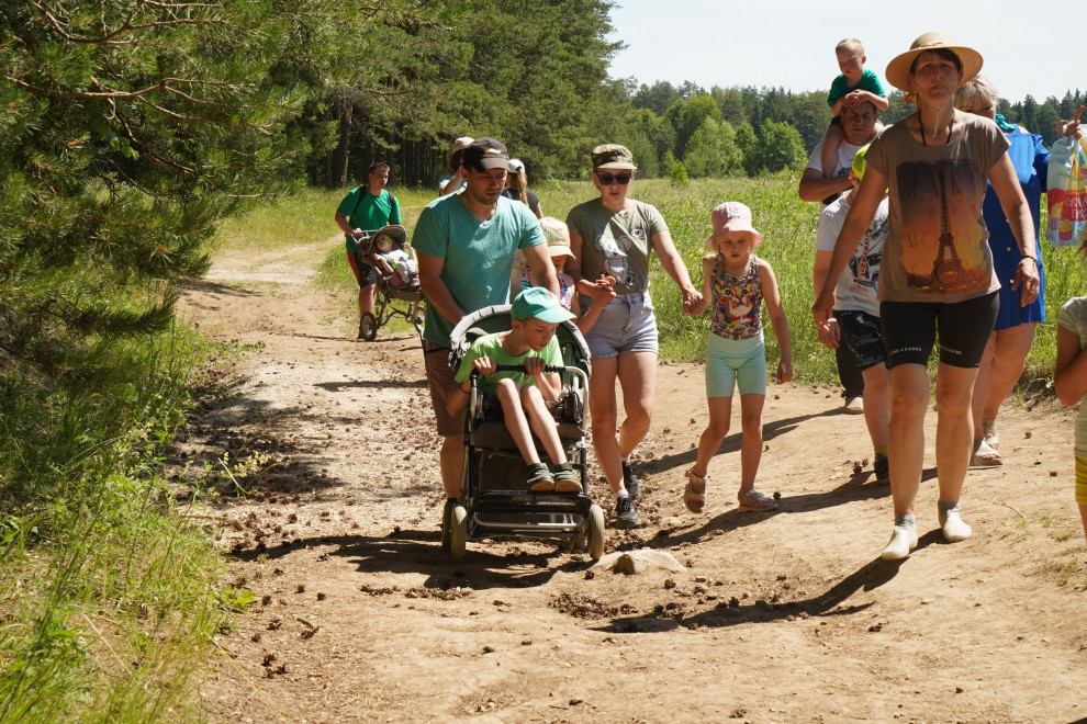
[{"label": "woman in bright blue dress walking behind the straw-hatted woman", "polygon": [[[955,108],[967,113],[994,121],[1007,135],[1011,147],[1008,155],[1019,178],[1027,204],[1034,220],[1034,259],[1039,260],[1038,297],[1030,304],[1021,305],[1018,289],[1011,281],[1021,261],[1021,253],[1011,227],[1000,207],[1000,200],[991,184],[985,193],[982,216],[989,230],[989,248],[1000,287],[1000,310],[997,314],[993,335],[989,337],[982,358],[982,364],[974,383],[971,404],[974,416],[974,453],[971,465],[1000,465],[1000,439],[997,437],[996,418],[1000,404],[1019,382],[1023,364],[1039,321],[1045,321],[1045,272],[1041,268],[1042,249],[1038,240],[1039,205],[1045,191],[1046,165],[1050,151],[1042,145],[1042,137],[1029,133],[1022,126],[1009,124],[996,112],[997,90],[984,76],[964,82],[955,91]],[[1072,135],[1078,132],[1079,124],[1062,122],[1057,133]]]}]

